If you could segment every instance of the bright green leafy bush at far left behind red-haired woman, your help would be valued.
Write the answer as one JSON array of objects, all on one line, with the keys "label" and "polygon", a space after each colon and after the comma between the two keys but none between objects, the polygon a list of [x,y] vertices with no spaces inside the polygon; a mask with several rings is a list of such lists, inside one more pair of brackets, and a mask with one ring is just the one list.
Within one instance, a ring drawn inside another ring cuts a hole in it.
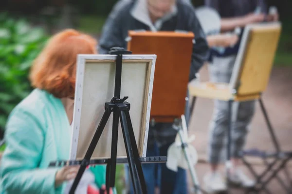
[{"label": "bright green leafy bush at far left behind red-haired woman", "polygon": [[0,129],[12,109],[31,91],[29,68],[47,36],[25,19],[0,14]]}]

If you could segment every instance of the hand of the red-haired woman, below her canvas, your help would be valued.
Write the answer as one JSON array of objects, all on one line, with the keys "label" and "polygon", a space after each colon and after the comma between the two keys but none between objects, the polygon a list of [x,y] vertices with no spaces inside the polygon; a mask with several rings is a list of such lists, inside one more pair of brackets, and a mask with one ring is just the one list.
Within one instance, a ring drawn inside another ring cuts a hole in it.
[{"label": "hand of the red-haired woman, below her canvas", "polygon": [[57,171],[55,176],[55,187],[60,186],[65,181],[76,177],[80,166],[65,166]]}]

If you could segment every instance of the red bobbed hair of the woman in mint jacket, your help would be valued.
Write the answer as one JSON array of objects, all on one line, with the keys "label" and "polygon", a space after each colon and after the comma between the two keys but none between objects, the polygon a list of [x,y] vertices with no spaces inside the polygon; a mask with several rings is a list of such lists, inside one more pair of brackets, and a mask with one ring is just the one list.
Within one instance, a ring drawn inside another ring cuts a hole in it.
[{"label": "red bobbed hair of the woman in mint jacket", "polygon": [[77,54],[96,54],[96,45],[93,37],[75,30],[55,34],[33,63],[32,86],[58,98],[73,98]]}]

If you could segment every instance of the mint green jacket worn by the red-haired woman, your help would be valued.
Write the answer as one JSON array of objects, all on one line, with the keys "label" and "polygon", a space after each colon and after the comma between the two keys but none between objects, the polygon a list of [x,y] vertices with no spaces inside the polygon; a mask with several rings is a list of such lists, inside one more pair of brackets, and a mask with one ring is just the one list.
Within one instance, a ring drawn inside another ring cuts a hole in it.
[{"label": "mint green jacket worn by the red-haired woman", "polygon": [[[2,194],[62,194],[55,188],[57,160],[69,160],[71,128],[59,98],[35,89],[9,116],[6,149],[0,163]],[[105,184],[104,165],[92,170],[97,186]]]}]

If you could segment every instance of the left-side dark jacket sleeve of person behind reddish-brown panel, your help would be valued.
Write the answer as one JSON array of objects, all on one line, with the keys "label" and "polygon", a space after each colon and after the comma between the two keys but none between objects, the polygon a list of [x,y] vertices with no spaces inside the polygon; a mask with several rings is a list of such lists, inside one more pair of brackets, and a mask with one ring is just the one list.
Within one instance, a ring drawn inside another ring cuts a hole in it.
[{"label": "left-side dark jacket sleeve of person behind reddish-brown panel", "polygon": [[[125,7],[125,1],[120,0],[110,12],[106,23],[103,26],[98,44],[99,54],[108,54],[112,47],[125,47],[125,40],[122,36],[121,14]],[[124,24],[126,25],[126,24]],[[125,48],[126,49],[126,48]]]}]

